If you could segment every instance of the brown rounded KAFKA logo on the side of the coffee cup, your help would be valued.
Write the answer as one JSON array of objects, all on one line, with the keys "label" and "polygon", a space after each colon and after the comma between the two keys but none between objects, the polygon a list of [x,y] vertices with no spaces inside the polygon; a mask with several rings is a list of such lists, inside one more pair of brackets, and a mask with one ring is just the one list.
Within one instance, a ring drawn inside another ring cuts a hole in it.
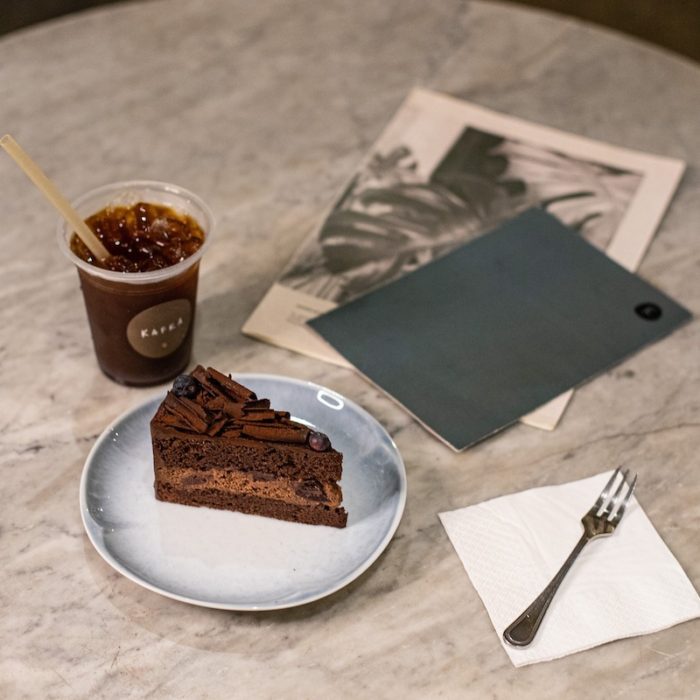
[{"label": "brown rounded KAFKA logo on the side of the coffee cup", "polygon": [[180,347],[192,320],[187,299],[174,299],[145,309],[129,321],[126,337],[144,357],[165,357]]}]

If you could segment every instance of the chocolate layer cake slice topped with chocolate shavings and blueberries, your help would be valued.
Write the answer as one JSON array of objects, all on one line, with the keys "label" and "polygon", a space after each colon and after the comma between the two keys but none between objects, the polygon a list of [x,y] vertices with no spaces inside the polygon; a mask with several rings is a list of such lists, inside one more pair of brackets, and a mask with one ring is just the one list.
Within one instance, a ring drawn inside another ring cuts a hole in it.
[{"label": "chocolate layer cake slice topped with chocolate shavings and blueberries", "polygon": [[156,498],[345,527],[343,455],[211,367],[177,377],[151,420]]}]

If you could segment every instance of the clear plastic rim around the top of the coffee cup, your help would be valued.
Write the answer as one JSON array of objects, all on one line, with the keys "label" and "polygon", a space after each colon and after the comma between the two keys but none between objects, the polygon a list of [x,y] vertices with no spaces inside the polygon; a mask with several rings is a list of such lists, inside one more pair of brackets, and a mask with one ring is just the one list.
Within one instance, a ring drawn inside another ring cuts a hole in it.
[{"label": "clear plastic rim around the top of the coffee cup", "polygon": [[[95,265],[91,265],[85,260],[79,258],[70,249],[68,243],[67,230],[69,228],[68,223],[64,219],[59,219],[56,226],[56,236],[58,238],[58,246],[61,252],[78,268],[87,272],[93,277],[101,277],[102,279],[111,280],[113,282],[122,282],[124,284],[148,284],[153,282],[161,282],[172,277],[176,277],[178,274],[185,272],[196,262],[200,260],[204,251],[207,250],[211,244],[212,234],[214,231],[214,215],[209,208],[209,206],[204,202],[204,200],[196,195],[190,190],[180,187],[180,185],[175,185],[170,182],[161,182],[159,180],[120,180],[117,182],[110,182],[106,185],[100,185],[87,192],[83,193],[79,197],[76,197],[71,201],[71,204],[77,209],[85,201],[91,199],[92,197],[99,196],[101,194],[107,194],[109,192],[114,192],[115,196],[119,191],[128,192],[130,189],[137,188],[150,188],[155,190],[162,190],[164,192],[170,192],[172,194],[181,196],[185,199],[189,199],[192,203],[202,211],[205,219],[207,221],[202,222],[199,217],[194,217],[197,219],[200,225],[205,224],[205,236],[204,243],[189,257],[181,260],[175,265],[170,265],[169,267],[163,267],[159,270],[151,270],[149,272],[117,272],[115,270],[105,270]],[[157,202],[156,202],[157,203]],[[98,211],[98,210],[96,210]]]}]

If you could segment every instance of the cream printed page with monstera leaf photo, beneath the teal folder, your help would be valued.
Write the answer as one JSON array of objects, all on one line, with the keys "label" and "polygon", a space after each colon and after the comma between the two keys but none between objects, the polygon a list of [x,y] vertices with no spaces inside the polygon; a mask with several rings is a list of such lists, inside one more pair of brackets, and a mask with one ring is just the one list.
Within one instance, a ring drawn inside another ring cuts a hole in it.
[{"label": "cream printed page with monstera leaf photo, beneath the teal folder", "polygon": [[[416,89],[243,332],[349,367],[306,321],[540,206],[637,269],[684,164]],[[556,427],[573,391],[521,420]]]}]

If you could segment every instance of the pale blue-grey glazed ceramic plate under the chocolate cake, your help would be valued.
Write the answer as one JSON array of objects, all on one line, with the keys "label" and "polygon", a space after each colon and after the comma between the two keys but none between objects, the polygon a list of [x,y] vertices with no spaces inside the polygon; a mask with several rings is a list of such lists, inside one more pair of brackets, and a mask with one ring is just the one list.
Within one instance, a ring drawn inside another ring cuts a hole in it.
[{"label": "pale blue-grey glazed ceramic plate under the chocolate cake", "polygon": [[117,571],[156,593],[227,610],[308,603],[347,585],[382,553],[406,502],[406,472],[377,421],[310,382],[236,379],[327,433],[344,455],[344,529],[161,503],[153,494],[149,421],[162,396],[118,418],[90,452],[80,483],[85,530]]}]

